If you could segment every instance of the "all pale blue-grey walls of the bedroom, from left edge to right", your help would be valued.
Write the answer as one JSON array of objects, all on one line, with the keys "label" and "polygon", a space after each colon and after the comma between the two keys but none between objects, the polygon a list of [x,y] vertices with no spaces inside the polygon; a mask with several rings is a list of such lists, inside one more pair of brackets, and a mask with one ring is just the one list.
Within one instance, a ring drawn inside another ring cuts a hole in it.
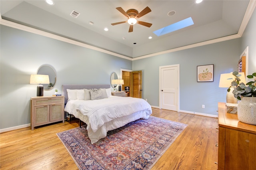
[{"label": "all pale blue-grey walls of the bedroom, from left edge to right", "polygon": [[[225,102],[226,89],[219,88],[221,73],[237,69],[237,61],[249,46],[248,72],[256,72],[256,11],[242,38],[130,61],[44,36],[0,26],[0,129],[30,123],[30,97],[36,85],[29,84],[43,64],[57,73],[54,89],[62,84],[110,83],[120,68],[143,70],[143,98],[159,106],[159,67],[180,64],[180,109],[217,115],[217,103]],[[214,82],[196,82],[196,66],[214,64]],[[52,95],[54,89],[44,91]],[[202,104],[205,109],[202,109]]]}]

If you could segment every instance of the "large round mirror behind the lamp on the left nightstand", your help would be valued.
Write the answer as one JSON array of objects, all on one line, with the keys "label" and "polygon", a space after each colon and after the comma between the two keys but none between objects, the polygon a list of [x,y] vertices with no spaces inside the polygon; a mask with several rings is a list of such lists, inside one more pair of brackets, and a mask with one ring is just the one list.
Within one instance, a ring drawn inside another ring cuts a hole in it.
[{"label": "large round mirror behind the lamp on the left nightstand", "polygon": [[50,90],[56,83],[56,72],[50,65],[42,65],[39,67],[37,74],[49,75],[50,84],[43,84],[44,90]]}]

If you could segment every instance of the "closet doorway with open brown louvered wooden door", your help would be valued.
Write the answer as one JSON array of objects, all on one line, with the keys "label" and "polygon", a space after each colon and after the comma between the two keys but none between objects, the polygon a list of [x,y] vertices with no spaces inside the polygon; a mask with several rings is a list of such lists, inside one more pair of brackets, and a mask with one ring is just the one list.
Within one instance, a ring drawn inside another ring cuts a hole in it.
[{"label": "closet doorway with open brown louvered wooden door", "polygon": [[142,98],[142,70],[132,71],[121,69],[121,72],[122,79],[124,80],[122,91],[128,93],[128,97]]}]

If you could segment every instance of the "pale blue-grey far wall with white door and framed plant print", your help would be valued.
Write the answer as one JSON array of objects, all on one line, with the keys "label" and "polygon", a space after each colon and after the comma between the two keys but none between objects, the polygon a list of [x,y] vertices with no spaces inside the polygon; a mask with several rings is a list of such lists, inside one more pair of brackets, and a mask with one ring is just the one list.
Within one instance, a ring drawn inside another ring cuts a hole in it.
[{"label": "pale blue-grey far wall with white door and framed plant print", "polygon": [[[132,69],[143,71],[143,98],[159,106],[159,67],[180,64],[180,110],[217,115],[218,102],[226,101],[220,74],[236,70],[239,56],[240,39],[234,39],[135,60]],[[208,64],[214,64],[214,81],[197,82],[197,66]]]}]

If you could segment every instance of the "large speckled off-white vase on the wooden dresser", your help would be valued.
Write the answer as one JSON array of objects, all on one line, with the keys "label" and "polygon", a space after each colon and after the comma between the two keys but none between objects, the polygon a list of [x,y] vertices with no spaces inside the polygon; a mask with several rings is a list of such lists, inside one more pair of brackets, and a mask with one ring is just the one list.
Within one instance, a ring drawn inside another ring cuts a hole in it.
[{"label": "large speckled off-white vase on the wooden dresser", "polygon": [[242,97],[237,107],[238,120],[256,125],[256,97]]}]

